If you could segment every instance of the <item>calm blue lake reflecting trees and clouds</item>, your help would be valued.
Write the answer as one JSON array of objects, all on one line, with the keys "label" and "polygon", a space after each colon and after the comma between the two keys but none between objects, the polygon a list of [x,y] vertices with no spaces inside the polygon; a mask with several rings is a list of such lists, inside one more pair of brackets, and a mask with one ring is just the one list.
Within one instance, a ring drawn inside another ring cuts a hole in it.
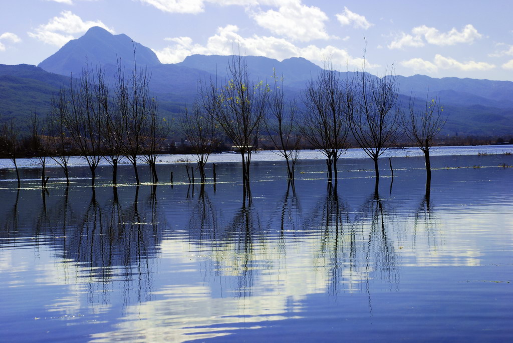
[{"label": "calm blue lake reflecting trees and clouds", "polygon": [[189,185],[170,155],[159,185],[122,165],[114,188],[102,165],[94,192],[80,158],[69,187],[50,167],[47,191],[30,160],[19,190],[0,160],[0,337],[513,341],[511,150],[439,148],[429,191],[412,149],[389,150],[393,179],[380,160],[378,191],[359,149],[336,188],[302,152],[295,190],[262,152],[248,197],[233,153],[212,156],[215,185]]}]

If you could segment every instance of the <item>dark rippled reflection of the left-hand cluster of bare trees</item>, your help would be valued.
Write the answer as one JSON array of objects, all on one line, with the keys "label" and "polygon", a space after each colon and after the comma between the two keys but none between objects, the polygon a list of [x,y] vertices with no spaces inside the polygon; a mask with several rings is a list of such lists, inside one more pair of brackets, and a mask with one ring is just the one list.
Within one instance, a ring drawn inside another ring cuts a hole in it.
[{"label": "dark rippled reflection of the left-hand cluster of bare trees", "polygon": [[[21,227],[18,215],[19,192],[12,211],[6,213],[9,227],[2,231],[2,245],[19,244],[17,237],[27,237],[35,248],[51,246],[61,260],[63,283],[74,277],[86,285],[89,304],[107,304],[114,281],[121,281],[125,304],[150,299],[154,264],[148,259],[159,252],[165,229],[165,218],[160,211],[156,187],[150,189],[148,199],[140,201],[140,187],[127,187],[134,191],[132,201],[120,201],[118,187],[112,195],[96,192],[86,206],[81,198],[70,199],[70,188],[63,195],[56,190],[43,190],[40,209],[25,214]],[[26,194],[29,195],[29,194]],[[81,196],[82,190],[75,192]],[[51,201],[50,201],[51,200]],[[73,204],[73,205],[71,205]],[[31,204],[32,206],[34,204]],[[33,217],[28,217],[33,213]],[[135,298],[132,297],[135,295]]]}]

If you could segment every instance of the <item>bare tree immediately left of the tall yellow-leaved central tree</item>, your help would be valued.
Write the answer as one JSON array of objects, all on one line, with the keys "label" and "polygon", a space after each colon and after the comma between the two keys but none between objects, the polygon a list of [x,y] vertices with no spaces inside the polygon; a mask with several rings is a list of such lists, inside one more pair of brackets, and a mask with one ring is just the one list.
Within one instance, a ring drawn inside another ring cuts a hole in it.
[{"label": "bare tree immediately left of the tall yellow-leaved central tree", "polygon": [[199,94],[190,109],[185,109],[180,122],[182,132],[190,142],[192,152],[200,171],[201,182],[205,183],[205,165],[212,151],[219,145],[219,130],[212,117],[215,97],[207,93],[209,88],[200,85]]}]

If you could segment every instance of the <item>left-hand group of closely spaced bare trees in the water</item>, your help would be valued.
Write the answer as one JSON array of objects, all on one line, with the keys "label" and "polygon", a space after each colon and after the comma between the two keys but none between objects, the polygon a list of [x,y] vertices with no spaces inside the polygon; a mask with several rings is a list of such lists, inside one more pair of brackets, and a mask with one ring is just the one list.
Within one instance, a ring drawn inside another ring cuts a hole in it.
[{"label": "left-hand group of closely spaced bare trees in the water", "polygon": [[[102,159],[112,166],[112,182],[117,184],[117,165],[125,157],[133,166],[140,184],[137,164],[146,163],[151,179],[158,181],[157,155],[162,152],[170,125],[159,116],[158,103],[149,90],[150,75],[133,69],[127,76],[119,64],[113,87],[101,67],[87,67],[78,78],[70,77],[51,99],[46,115],[32,114],[29,129],[29,154],[42,167],[42,186],[46,186],[47,159],[57,163],[69,183],[69,160],[78,155],[85,160],[94,186],[96,168]],[[0,146],[13,161],[16,174],[17,148],[21,133],[14,120],[2,124]]]}]

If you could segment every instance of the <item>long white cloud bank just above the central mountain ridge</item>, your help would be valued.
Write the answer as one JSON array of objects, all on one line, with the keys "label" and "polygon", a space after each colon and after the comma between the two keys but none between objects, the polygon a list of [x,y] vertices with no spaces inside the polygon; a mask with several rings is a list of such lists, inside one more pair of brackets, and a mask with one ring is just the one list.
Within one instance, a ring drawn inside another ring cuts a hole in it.
[{"label": "long white cloud bank just above the central mountain ridge", "polygon": [[[167,41],[174,44],[157,50],[155,53],[162,63],[178,63],[192,54],[230,55],[233,53],[233,49],[239,46],[241,53],[246,55],[266,56],[278,60],[304,57],[321,66],[325,57],[331,57],[333,65],[341,68],[345,68],[346,64],[361,67],[364,62],[363,58],[352,57],[346,50],[333,46],[298,47],[284,38],[258,35],[243,37],[238,31],[239,28],[235,25],[220,27],[215,35],[208,38],[206,45],[194,44],[190,37],[166,38]],[[368,68],[378,67],[369,63],[366,66]]]}]

